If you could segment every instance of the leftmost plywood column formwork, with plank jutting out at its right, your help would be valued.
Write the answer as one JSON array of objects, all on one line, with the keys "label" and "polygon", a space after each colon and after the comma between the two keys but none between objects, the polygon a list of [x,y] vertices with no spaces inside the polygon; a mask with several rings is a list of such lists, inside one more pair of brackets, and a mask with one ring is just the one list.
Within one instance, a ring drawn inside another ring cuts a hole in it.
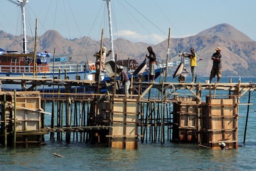
[{"label": "leftmost plywood column formwork, with plank jutting out at its right", "polygon": [[[4,97],[4,98],[2,98]],[[46,134],[41,130],[41,114],[39,92],[13,92],[0,95],[2,102],[1,118],[7,120],[1,128],[6,128],[5,143],[13,147],[39,146],[41,135]],[[5,100],[6,99],[6,100]],[[3,106],[4,105],[4,106]],[[2,130],[1,130],[2,132]]]}]

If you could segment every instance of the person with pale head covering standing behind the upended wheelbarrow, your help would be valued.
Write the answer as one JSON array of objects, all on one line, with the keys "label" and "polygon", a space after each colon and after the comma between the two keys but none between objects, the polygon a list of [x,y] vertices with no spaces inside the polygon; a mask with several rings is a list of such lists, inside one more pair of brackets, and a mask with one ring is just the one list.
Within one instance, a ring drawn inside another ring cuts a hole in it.
[{"label": "person with pale head covering standing behind the upended wheelbarrow", "polygon": [[95,81],[98,81],[99,78],[99,73],[100,73],[100,60],[101,60],[101,69],[104,70],[104,62],[106,57],[109,56],[111,50],[107,52],[107,48],[105,46],[102,47],[102,56],[101,56],[101,51],[99,50],[97,53],[93,54],[94,57],[96,57],[95,61],[95,68],[96,68],[96,73],[95,73]]}]

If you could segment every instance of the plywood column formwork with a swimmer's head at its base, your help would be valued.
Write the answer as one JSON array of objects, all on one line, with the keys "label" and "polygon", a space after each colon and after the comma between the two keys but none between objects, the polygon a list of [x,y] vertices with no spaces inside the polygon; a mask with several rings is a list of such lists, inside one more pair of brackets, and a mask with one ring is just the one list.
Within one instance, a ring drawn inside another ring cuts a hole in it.
[{"label": "plywood column formwork with a swimmer's head at its base", "polygon": [[219,143],[225,142],[229,149],[237,148],[238,113],[235,96],[210,99],[200,114],[200,145],[220,149]]}]

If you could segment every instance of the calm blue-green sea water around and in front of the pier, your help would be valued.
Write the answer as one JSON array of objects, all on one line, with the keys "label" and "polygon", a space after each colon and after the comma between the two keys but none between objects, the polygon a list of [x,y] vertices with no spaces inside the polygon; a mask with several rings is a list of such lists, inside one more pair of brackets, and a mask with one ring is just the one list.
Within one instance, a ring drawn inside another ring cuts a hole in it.
[{"label": "calm blue-green sea water around and in front of the pier", "polygon": [[[209,78],[198,77],[197,81],[204,82],[205,79]],[[232,82],[238,82],[238,79],[232,78]],[[191,77],[188,77],[187,82],[190,81]],[[241,78],[241,81],[255,83],[256,78]],[[229,78],[223,77],[221,82],[229,82]],[[255,97],[256,92],[251,92],[250,103],[254,105],[250,105],[245,144],[247,105],[239,106],[239,115],[242,117],[238,119],[238,144],[242,147],[238,149],[206,149],[196,144],[170,143],[166,138],[164,145],[159,142],[140,143],[139,149],[125,150],[76,141],[68,145],[65,141],[51,142],[46,135],[47,145],[39,148],[5,149],[0,146],[0,170],[255,170]],[[248,92],[241,97],[240,103],[248,103]],[[50,125],[48,120],[46,125]],[[56,157],[53,153],[64,158]]]}]

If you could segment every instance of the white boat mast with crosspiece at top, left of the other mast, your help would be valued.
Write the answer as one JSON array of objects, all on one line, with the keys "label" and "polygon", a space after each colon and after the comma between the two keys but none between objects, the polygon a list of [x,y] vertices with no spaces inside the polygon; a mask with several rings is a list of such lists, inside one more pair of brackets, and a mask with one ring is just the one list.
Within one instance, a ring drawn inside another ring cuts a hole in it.
[{"label": "white boat mast with crosspiece at top, left of the other mast", "polygon": [[25,6],[28,0],[18,0],[19,3],[12,0],[7,0],[14,3],[17,6],[20,6],[22,13],[22,26],[23,26],[23,54],[27,54],[27,38],[26,38],[26,18],[25,18]]}]

